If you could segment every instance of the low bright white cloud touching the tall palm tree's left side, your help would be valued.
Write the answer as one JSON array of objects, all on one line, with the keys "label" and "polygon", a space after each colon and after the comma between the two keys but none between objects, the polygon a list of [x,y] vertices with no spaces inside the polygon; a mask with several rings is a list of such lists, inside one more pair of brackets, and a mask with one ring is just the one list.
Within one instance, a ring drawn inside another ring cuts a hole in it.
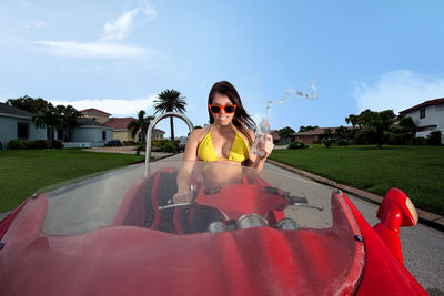
[{"label": "low bright white cloud touching the tall palm tree's left side", "polygon": [[72,105],[77,110],[83,110],[89,108],[99,109],[107,113],[111,113],[111,116],[132,116],[137,118],[140,110],[144,110],[148,115],[153,113],[152,105],[153,100],[157,95],[151,95],[149,98],[141,98],[134,100],[123,100],[123,99],[103,99],[103,100],[78,100],[78,101],[57,101],[50,100],[53,105]]}]

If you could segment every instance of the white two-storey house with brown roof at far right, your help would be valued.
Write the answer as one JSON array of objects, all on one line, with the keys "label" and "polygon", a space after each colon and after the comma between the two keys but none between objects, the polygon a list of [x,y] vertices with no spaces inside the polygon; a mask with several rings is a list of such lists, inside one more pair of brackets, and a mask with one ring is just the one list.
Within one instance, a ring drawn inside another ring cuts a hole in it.
[{"label": "white two-storey house with brown roof at far right", "polygon": [[401,111],[400,115],[412,118],[416,125],[416,136],[427,136],[434,131],[444,134],[444,98],[425,101]]}]

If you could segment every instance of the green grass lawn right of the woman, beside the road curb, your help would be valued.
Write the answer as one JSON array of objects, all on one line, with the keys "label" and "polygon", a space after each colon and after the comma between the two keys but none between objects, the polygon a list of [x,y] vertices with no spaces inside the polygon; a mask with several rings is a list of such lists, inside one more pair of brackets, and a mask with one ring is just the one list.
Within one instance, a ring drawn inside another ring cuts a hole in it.
[{"label": "green grass lawn right of the woman, beside the road curb", "polygon": [[313,145],[270,159],[380,195],[397,187],[415,206],[444,214],[444,147]]}]

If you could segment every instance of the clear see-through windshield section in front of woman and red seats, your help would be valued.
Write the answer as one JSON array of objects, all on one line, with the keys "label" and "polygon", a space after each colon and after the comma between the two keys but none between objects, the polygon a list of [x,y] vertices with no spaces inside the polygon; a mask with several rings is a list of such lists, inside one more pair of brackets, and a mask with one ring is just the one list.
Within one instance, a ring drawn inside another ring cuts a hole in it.
[{"label": "clear see-through windshield section in front of woman and red seats", "polygon": [[[190,201],[174,204],[181,170]],[[42,192],[48,198],[42,232],[73,235],[121,225],[172,234],[251,225],[294,231],[334,226],[332,190],[276,166],[265,164],[259,172],[228,162],[158,161],[147,177],[144,171],[144,164],[131,165]]]}]

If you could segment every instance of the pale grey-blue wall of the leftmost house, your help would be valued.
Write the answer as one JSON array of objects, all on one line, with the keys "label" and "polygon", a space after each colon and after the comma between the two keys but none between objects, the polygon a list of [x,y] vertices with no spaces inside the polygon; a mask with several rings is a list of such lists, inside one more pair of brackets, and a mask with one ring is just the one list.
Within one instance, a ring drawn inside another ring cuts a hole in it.
[{"label": "pale grey-blue wall of the leftmost house", "polygon": [[0,116],[0,142],[7,149],[8,142],[18,139],[17,123],[29,124],[27,140],[47,140],[47,129],[38,129],[30,119],[17,119],[12,116]]}]

